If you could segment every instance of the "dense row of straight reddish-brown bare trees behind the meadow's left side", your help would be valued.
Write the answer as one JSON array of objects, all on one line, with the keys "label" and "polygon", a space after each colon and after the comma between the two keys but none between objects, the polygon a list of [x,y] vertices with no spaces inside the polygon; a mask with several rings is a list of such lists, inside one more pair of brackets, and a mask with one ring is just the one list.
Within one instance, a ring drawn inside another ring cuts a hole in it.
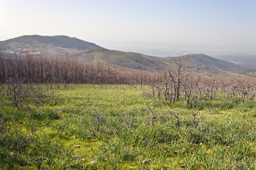
[{"label": "dense row of straight reddish-brown bare trees behind the meadow's left side", "polygon": [[[0,52],[1,54],[1,52]],[[82,63],[74,58],[24,57],[0,55],[0,83],[8,79],[39,84],[151,84],[158,73]]]}]

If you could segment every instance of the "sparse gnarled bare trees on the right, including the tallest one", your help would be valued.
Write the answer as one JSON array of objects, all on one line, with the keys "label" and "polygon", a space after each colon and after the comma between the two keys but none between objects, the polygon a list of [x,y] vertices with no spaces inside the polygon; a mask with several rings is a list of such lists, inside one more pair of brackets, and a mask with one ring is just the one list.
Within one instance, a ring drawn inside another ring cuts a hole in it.
[{"label": "sparse gnarled bare trees on the right, including the tallest one", "polygon": [[256,79],[246,77],[207,77],[185,72],[183,64],[188,56],[174,58],[176,69],[159,75],[159,81],[151,84],[145,94],[157,97],[171,105],[176,101],[186,101],[187,106],[201,98],[213,100],[217,94],[225,99],[236,98],[241,102],[253,100],[256,94]]}]

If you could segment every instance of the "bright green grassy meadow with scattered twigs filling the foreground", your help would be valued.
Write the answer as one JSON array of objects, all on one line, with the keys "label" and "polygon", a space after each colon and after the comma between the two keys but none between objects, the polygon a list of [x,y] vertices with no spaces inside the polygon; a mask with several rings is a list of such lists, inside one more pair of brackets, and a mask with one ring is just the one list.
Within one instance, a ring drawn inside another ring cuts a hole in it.
[{"label": "bright green grassy meadow with scattered twigs filling the foreground", "polygon": [[21,108],[2,96],[0,169],[255,169],[255,100],[219,94],[196,114],[199,103],[167,106],[144,91],[62,85]]}]

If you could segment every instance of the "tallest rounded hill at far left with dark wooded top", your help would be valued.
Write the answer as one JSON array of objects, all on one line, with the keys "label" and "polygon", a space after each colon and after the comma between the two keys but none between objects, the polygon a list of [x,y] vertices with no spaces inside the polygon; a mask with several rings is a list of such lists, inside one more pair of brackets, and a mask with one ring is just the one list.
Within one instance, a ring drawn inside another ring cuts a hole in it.
[{"label": "tallest rounded hill at far left with dark wooded top", "polygon": [[23,35],[18,38],[0,41],[0,47],[1,50],[10,54],[31,50],[32,52],[41,52],[51,57],[62,57],[67,53],[76,54],[85,51],[106,50],[92,42],[70,38],[65,35]]}]

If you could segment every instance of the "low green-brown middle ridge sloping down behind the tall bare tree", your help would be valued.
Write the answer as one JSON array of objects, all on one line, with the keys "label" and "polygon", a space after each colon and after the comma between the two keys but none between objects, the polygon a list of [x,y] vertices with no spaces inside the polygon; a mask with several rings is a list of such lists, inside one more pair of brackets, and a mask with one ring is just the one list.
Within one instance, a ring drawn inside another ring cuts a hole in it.
[{"label": "low green-brown middle ridge sloping down behind the tall bare tree", "polygon": [[[141,69],[149,71],[164,71],[176,68],[172,62],[173,57],[162,58],[152,57],[149,55],[143,55],[137,52],[122,52],[115,50],[97,51],[97,52],[82,52],[80,54],[73,55],[83,62],[97,63],[102,62],[105,64],[114,64],[119,67],[128,67],[132,69]],[[229,75],[227,72],[223,72],[220,69],[209,67],[207,65],[198,64],[196,62],[187,61],[185,64],[187,72],[197,72],[200,74],[206,74],[208,76],[214,75]]]}]

